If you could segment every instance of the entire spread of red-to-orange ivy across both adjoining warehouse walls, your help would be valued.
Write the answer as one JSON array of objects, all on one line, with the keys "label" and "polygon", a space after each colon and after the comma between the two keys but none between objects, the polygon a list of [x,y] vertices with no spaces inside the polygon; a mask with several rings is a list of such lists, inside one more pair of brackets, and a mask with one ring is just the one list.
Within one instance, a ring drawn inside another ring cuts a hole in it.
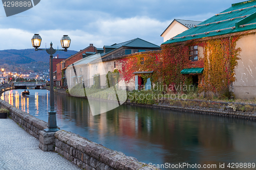
[{"label": "entire spread of red-to-orange ivy across both adjoining warehouse walls", "polygon": [[[151,78],[152,82],[162,83],[174,92],[185,92],[184,85],[190,85],[193,74],[181,74],[184,68],[202,68],[203,74],[197,74],[199,92],[211,91],[223,94],[232,82],[236,80],[234,68],[238,65],[241,48],[236,48],[240,37],[226,37],[201,42],[186,42],[184,44],[163,44],[162,53],[138,54],[120,59],[120,73],[126,82],[134,79],[135,71],[154,71],[153,74],[138,75],[144,80]],[[203,49],[204,57],[198,61],[189,60],[189,46],[198,45]],[[143,64],[142,63],[143,60]],[[175,87],[175,88],[174,88]]]}]

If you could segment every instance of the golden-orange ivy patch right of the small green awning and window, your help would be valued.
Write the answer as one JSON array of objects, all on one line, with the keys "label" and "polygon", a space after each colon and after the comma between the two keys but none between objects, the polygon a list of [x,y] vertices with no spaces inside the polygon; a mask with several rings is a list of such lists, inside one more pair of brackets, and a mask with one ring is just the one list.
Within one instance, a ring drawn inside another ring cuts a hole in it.
[{"label": "golden-orange ivy patch right of the small green awning and window", "polygon": [[238,66],[241,48],[236,48],[240,37],[227,37],[205,42],[203,81],[201,91],[223,94],[236,80],[234,68]]}]

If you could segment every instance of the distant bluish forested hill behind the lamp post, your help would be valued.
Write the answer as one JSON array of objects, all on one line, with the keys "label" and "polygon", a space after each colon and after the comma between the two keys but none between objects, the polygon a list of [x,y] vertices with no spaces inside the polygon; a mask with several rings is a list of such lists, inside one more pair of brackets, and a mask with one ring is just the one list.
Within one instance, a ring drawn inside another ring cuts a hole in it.
[{"label": "distant bluish forested hill behind the lamp post", "polygon": [[[68,52],[57,51],[53,57],[68,58],[77,51],[68,50]],[[32,49],[25,50],[2,50],[0,51],[0,67],[6,68],[7,71],[16,72],[37,72],[49,69],[50,55],[46,51],[35,51]]]}]

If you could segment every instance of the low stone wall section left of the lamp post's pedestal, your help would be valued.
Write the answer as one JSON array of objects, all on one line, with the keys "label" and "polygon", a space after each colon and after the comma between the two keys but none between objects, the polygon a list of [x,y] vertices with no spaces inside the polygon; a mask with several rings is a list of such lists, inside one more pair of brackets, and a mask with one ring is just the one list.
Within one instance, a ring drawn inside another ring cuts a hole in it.
[{"label": "low stone wall section left of the lamp post's pedestal", "polygon": [[37,139],[39,139],[39,132],[47,128],[48,124],[45,121],[19,110],[5,101],[0,100],[0,107],[8,109],[14,122]]}]

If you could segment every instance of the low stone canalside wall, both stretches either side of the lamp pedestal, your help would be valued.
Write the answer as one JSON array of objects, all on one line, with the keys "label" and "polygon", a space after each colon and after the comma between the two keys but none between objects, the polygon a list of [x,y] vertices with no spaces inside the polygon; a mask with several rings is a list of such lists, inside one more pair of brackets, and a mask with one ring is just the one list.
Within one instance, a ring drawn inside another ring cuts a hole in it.
[{"label": "low stone canalside wall, both stretches either side of the lamp pedestal", "polygon": [[[7,91],[6,90],[3,90]],[[2,93],[2,92],[1,92]],[[0,93],[0,94],[1,94]],[[53,136],[44,133],[47,123],[9,103],[0,100],[0,107],[9,110],[9,117],[20,127],[44,143],[53,147],[55,152],[85,169],[154,169],[134,157],[103,147],[103,145],[81,137],[78,134],[59,130]],[[44,136],[45,135],[45,136]],[[53,140],[53,141],[52,141]],[[40,147],[39,147],[40,148]],[[42,148],[41,148],[42,149]],[[44,150],[44,149],[43,149]]]}]

